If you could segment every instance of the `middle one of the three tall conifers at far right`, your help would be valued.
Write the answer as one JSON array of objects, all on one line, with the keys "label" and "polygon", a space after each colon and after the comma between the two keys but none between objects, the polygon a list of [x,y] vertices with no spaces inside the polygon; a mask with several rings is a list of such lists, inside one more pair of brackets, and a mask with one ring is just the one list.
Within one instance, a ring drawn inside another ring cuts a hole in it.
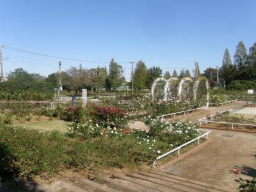
[{"label": "middle one of the three tall conifers at far right", "polygon": [[239,72],[243,72],[244,67],[246,66],[247,60],[247,51],[245,45],[242,41],[236,46],[236,53],[234,55],[234,64],[237,67]]}]

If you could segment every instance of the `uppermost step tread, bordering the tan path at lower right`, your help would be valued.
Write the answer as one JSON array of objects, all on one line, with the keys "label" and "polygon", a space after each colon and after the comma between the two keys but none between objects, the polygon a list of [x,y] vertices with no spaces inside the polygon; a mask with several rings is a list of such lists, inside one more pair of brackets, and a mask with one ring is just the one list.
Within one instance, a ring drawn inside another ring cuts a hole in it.
[{"label": "uppermost step tread, bordering the tan path at lower right", "polygon": [[172,173],[168,173],[168,172],[161,172],[161,171],[154,171],[154,170],[150,170],[148,171],[149,173],[154,173],[156,175],[160,175],[163,177],[169,177],[171,179],[176,179],[179,180],[179,182],[187,182],[187,183],[191,183],[191,184],[196,184],[198,186],[205,186],[207,188],[207,191],[216,191],[216,192],[226,192],[226,189],[220,188],[219,186],[213,185],[213,184],[207,184],[205,182],[200,182],[197,180],[192,180],[192,179],[186,179],[184,177],[179,177],[177,175],[173,175]]}]

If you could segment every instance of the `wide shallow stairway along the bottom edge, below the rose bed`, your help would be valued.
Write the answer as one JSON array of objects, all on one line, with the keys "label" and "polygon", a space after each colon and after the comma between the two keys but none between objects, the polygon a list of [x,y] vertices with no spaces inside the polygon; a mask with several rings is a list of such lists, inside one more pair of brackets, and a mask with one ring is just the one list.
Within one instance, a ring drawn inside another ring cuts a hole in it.
[{"label": "wide shallow stairway along the bottom edge, below the rose bed", "polygon": [[185,179],[171,173],[161,171],[148,171],[138,173],[120,174],[111,177],[99,176],[98,179],[88,180],[81,178],[68,178],[68,181],[59,180],[49,186],[44,186],[46,191],[226,191],[218,186],[206,184],[196,180]]}]

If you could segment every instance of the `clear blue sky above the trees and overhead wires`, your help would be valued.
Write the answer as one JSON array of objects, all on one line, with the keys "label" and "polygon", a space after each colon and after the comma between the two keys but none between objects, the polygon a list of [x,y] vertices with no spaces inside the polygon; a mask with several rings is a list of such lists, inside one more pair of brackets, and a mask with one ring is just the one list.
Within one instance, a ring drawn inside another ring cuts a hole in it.
[{"label": "clear blue sky above the trees and overhead wires", "polygon": [[[201,72],[221,65],[227,47],[234,56],[243,40],[256,41],[256,1],[0,0],[0,44],[83,60],[145,61],[148,67]],[[3,49],[4,73],[18,67],[56,72],[56,58]],[[63,70],[79,66],[62,60]],[[82,63],[83,67],[104,63]],[[122,64],[129,80],[131,66]],[[163,70],[165,71],[165,70]],[[172,70],[170,70],[172,71]]]}]

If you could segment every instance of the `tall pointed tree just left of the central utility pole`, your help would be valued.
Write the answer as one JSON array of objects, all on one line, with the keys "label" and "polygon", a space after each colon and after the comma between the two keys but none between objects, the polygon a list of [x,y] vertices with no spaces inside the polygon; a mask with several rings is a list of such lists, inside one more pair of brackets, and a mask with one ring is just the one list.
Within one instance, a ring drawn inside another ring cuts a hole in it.
[{"label": "tall pointed tree just left of the central utility pole", "polygon": [[125,79],[123,77],[123,72],[122,65],[118,65],[118,63],[116,63],[112,58],[109,63],[108,81],[113,90],[116,90],[118,86],[124,83]]}]

